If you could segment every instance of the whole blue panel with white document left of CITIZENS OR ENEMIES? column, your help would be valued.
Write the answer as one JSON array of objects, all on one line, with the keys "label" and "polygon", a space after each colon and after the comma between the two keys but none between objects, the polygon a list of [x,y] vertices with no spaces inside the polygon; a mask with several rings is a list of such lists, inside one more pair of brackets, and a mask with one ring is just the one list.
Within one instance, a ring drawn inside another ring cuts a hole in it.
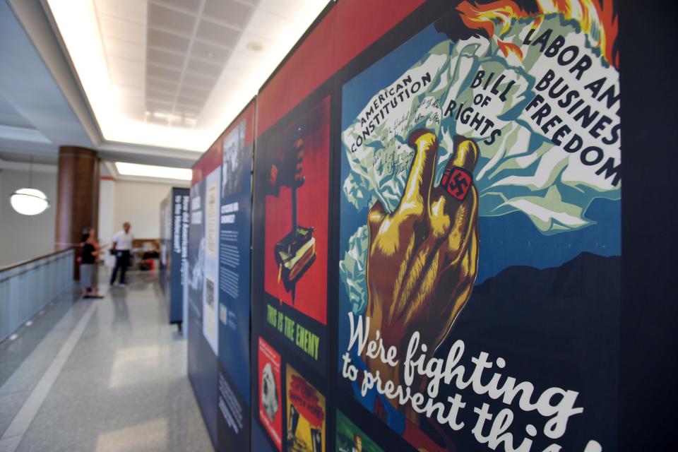
[{"label": "whole blue panel with white document left of CITIZENS OR ENEMIES? column", "polygon": [[193,167],[189,378],[215,448],[250,442],[251,169],[254,100]]}]

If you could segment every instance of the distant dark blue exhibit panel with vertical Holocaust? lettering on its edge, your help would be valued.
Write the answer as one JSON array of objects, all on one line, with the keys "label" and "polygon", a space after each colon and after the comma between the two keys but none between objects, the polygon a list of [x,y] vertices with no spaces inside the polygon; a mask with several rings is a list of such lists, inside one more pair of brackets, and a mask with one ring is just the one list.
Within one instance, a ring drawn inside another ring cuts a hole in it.
[{"label": "distant dark blue exhibit panel with vertical Holocaust? lettering on its edge", "polygon": [[184,321],[184,272],[189,255],[189,189],[174,187],[160,203],[160,288],[169,323]]}]

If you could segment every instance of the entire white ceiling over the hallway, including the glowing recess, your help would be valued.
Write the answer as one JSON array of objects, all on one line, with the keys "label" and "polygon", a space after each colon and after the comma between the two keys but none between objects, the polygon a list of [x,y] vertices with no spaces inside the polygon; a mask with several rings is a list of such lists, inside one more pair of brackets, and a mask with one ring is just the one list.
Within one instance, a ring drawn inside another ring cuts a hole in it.
[{"label": "entire white ceiling over the hallway, including the glowing recess", "polygon": [[[57,25],[52,3],[77,26]],[[0,160],[55,164],[79,145],[108,163],[191,167],[326,3],[0,0]],[[71,49],[61,27],[91,39]]]}]

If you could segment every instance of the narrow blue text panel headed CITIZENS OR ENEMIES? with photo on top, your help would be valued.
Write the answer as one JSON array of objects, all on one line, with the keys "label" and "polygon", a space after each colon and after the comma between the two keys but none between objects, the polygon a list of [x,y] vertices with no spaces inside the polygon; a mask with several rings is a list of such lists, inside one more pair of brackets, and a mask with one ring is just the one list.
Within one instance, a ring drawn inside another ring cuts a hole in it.
[{"label": "narrow blue text panel headed CITIZENS OR ENEMIES? with photo on top", "polygon": [[222,150],[219,258],[219,448],[249,447],[251,167],[254,104],[218,141]]}]

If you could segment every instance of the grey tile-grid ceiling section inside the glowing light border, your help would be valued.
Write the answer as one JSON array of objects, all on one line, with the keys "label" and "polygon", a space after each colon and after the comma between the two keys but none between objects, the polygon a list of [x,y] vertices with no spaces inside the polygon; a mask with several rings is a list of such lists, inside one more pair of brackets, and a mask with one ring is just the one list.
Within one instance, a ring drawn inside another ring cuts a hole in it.
[{"label": "grey tile-grid ceiling section inside the glowing light border", "polygon": [[256,4],[95,0],[109,74],[124,112],[141,121],[194,126]]}]

